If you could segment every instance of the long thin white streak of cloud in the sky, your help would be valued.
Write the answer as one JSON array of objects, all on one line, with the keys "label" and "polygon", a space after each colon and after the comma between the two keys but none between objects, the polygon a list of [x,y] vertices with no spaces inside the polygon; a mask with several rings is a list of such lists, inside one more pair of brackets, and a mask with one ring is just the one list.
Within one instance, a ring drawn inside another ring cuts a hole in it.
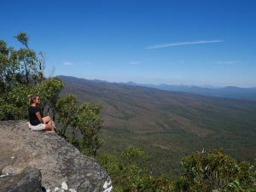
[{"label": "long thin white streak of cloud in the sky", "polygon": [[222,40],[210,40],[210,41],[179,42],[179,43],[172,43],[172,44],[155,44],[155,45],[150,45],[147,49],[160,49],[160,48],[174,47],[178,45],[188,45],[188,44],[217,44],[222,42],[223,42]]}]

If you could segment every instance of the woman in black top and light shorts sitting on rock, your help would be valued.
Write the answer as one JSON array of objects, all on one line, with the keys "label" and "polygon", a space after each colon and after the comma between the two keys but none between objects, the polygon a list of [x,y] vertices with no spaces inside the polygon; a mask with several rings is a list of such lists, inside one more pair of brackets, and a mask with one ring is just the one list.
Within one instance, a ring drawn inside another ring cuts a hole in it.
[{"label": "woman in black top and light shorts sitting on rock", "polygon": [[29,117],[29,128],[32,131],[52,131],[55,132],[54,122],[50,119],[49,116],[42,118],[40,113],[40,104],[39,96],[28,96],[30,101],[30,107],[28,108],[28,117]]}]

